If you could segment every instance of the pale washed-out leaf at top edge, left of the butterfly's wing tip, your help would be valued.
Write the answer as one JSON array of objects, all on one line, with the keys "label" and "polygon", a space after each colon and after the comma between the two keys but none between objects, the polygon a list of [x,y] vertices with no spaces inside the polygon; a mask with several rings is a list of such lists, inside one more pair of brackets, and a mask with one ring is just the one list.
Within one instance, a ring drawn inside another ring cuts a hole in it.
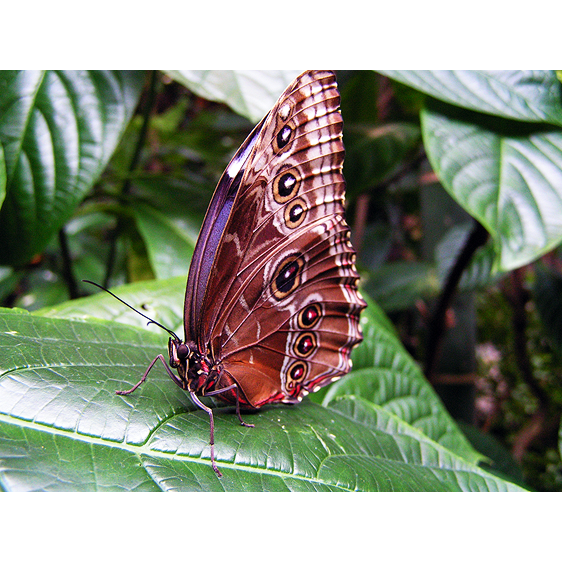
[{"label": "pale washed-out leaf at top edge, left of the butterfly's wing tip", "polygon": [[198,96],[228,104],[257,123],[299,70],[166,70]]}]

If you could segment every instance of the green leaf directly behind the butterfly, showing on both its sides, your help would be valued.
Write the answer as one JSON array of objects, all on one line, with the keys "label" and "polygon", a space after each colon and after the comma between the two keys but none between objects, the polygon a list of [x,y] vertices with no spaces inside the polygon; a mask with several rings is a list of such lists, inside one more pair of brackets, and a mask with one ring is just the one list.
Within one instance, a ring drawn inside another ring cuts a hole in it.
[{"label": "green leaf directly behind the butterfly, showing on both its sides", "polygon": [[[133,283],[115,289],[117,296],[176,333],[182,331],[184,291],[184,277],[164,282]],[[468,461],[482,460],[482,455],[471,447],[400,343],[388,317],[368,297],[365,298],[369,303],[361,319],[365,342],[353,353],[358,378],[355,373],[347,375],[338,383],[322,389],[318,395],[313,395],[315,401],[327,405],[347,394],[367,398],[389,408],[390,412],[418,429],[423,428],[428,437],[445,444]],[[147,327],[146,319],[125,308],[107,293],[69,301],[36,314],[83,320],[95,316],[130,326]],[[154,326],[148,326],[148,329],[154,333]],[[165,349],[165,337],[162,350]],[[356,380],[360,380],[360,389]]]}]

